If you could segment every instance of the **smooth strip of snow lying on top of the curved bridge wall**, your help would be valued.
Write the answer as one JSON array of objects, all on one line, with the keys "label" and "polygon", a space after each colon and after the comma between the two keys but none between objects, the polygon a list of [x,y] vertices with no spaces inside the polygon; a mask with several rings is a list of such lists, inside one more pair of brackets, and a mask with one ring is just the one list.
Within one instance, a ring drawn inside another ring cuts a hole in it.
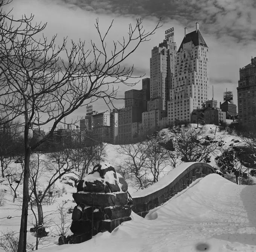
[{"label": "smooth strip of snow lying on top of the curved bridge wall", "polygon": [[145,188],[143,190],[137,191],[136,193],[131,194],[132,198],[139,198],[139,197],[145,197],[151,193],[154,193],[155,191],[161,190],[171,184],[172,181],[174,181],[179,175],[181,175],[186,169],[197,162],[187,162],[180,164],[175,169],[171,170],[167,175],[159,179],[159,181],[153,185],[151,185],[148,188]]}]

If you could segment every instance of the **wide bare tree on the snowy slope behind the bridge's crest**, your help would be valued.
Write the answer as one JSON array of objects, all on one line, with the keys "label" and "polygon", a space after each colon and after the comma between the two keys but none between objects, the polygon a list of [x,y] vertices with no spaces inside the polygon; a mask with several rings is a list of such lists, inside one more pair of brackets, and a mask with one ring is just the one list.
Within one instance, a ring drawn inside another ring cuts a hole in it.
[{"label": "wide bare tree on the snowy slope behind the bridge's crest", "polygon": [[174,148],[184,162],[202,162],[209,159],[209,155],[216,155],[222,149],[221,137],[212,136],[206,139],[206,129],[181,127],[172,133]]}]

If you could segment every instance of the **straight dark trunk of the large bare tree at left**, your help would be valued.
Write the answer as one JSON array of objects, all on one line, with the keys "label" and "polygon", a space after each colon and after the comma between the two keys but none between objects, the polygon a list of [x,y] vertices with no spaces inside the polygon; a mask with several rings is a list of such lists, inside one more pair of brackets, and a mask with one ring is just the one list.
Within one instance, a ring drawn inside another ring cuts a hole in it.
[{"label": "straight dark trunk of the large bare tree at left", "polygon": [[25,158],[24,158],[24,178],[23,178],[23,202],[20,221],[20,236],[17,252],[26,252],[27,243],[27,209],[29,205],[29,162],[31,149],[29,147],[29,127],[25,124],[24,129]]}]

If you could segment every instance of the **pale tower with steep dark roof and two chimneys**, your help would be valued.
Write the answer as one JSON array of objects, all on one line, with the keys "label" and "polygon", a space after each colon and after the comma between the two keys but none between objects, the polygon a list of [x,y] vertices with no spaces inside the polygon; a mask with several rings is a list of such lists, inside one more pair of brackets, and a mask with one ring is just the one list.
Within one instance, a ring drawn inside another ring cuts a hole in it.
[{"label": "pale tower with steep dark roof and two chimneys", "polygon": [[175,75],[169,90],[168,122],[176,120],[191,120],[191,112],[202,108],[207,99],[209,87],[209,48],[199,31],[187,33],[177,52]]}]

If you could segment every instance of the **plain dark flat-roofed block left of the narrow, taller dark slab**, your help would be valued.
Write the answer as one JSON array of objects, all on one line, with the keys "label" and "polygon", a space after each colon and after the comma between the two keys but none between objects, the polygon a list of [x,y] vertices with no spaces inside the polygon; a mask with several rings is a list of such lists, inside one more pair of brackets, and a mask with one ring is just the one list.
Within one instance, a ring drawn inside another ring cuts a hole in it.
[{"label": "plain dark flat-roofed block left of the narrow, taller dark slab", "polygon": [[133,135],[133,123],[142,120],[142,90],[125,92],[125,108],[118,112],[118,142],[128,143]]}]

